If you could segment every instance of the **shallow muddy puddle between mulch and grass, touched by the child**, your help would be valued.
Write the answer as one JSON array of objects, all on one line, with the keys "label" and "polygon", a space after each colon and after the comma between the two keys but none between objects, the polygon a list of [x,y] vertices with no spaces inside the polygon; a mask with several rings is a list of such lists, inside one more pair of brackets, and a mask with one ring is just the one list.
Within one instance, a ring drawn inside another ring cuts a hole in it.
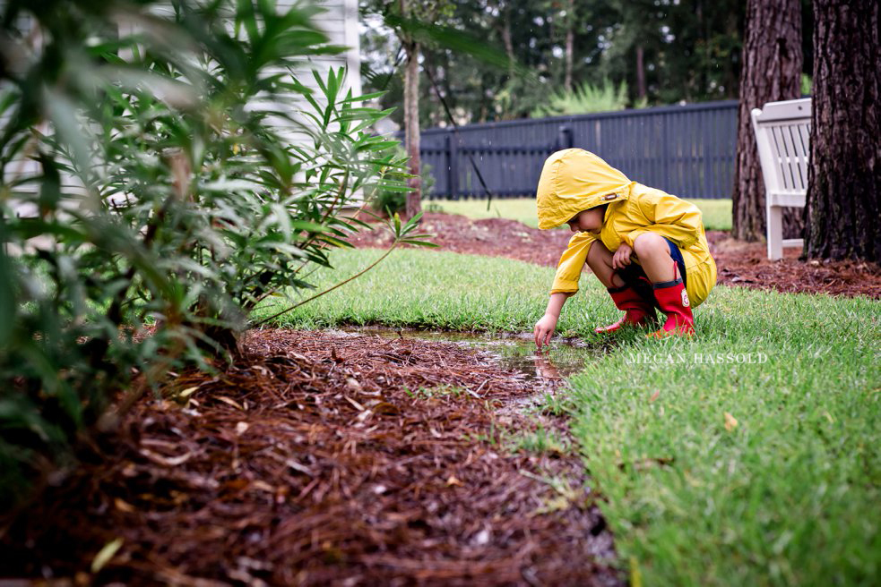
[{"label": "shallow muddy puddle between mulch and grass, touched by the child", "polygon": [[569,375],[582,370],[585,362],[599,358],[608,351],[605,347],[585,345],[581,341],[554,342],[540,352],[535,348],[531,334],[499,333],[494,336],[467,332],[438,332],[414,328],[342,327],[336,332],[371,334],[385,338],[414,338],[453,343],[488,353],[505,370],[521,373],[544,393],[557,387]]}]

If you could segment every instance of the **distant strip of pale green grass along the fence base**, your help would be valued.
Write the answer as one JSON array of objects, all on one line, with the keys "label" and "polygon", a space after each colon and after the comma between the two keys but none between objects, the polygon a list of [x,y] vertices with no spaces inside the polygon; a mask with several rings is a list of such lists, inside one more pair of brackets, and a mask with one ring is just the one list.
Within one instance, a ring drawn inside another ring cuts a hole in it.
[{"label": "distant strip of pale green grass along the fence base", "polygon": [[[704,213],[706,230],[731,230],[731,200],[689,200]],[[487,200],[433,200],[424,202],[450,214],[462,214],[469,218],[510,218],[536,228],[534,198],[493,200],[487,209]]]}]

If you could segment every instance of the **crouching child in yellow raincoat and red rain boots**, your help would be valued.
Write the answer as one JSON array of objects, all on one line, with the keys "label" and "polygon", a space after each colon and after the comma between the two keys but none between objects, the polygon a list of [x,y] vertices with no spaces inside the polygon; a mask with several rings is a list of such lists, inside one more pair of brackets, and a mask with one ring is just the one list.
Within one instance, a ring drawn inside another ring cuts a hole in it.
[{"label": "crouching child in yellow raincoat and red rain boots", "polygon": [[566,299],[578,291],[585,263],[624,311],[625,326],[657,327],[647,336],[694,336],[692,311],[716,283],[716,263],[700,210],[661,190],[630,181],[589,151],[565,149],[545,161],[537,190],[539,228],[569,225],[575,233],[557,265],[535,344],[547,345]]}]

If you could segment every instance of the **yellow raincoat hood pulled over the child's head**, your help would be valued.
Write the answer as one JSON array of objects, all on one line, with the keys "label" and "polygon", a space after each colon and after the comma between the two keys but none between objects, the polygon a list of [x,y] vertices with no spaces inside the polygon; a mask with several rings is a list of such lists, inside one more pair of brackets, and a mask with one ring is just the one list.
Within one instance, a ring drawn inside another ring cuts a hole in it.
[{"label": "yellow raincoat hood pulled over the child's head", "polygon": [[582,210],[626,200],[634,185],[590,151],[557,151],[545,161],[536,190],[539,228],[563,225]]}]

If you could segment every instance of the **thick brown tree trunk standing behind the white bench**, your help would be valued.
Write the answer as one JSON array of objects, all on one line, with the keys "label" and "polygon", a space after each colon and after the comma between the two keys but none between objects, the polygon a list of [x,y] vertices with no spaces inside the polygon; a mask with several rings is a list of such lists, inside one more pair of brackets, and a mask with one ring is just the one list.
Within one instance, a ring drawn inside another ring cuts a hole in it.
[{"label": "thick brown tree trunk standing behind the white bench", "polygon": [[[749,113],[765,102],[801,95],[801,0],[748,0],[742,62],[732,233],[759,241],[765,234],[764,183]],[[797,222],[784,211],[784,234]]]}]

